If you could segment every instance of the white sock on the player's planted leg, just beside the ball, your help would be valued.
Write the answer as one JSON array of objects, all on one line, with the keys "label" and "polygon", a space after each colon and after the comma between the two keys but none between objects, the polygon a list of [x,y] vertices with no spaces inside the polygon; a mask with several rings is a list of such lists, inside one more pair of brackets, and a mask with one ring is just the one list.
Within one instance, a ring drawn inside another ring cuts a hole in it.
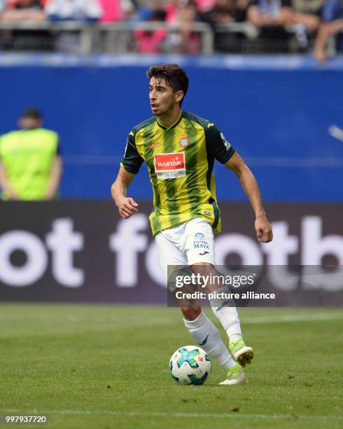
[{"label": "white sock on the player's planted leg, just beside the ball", "polygon": [[236,365],[221,339],[221,334],[205,313],[200,313],[195,320],[183,319],[183,322],[199,346],[214,357],[220,365],[225,369]]}]

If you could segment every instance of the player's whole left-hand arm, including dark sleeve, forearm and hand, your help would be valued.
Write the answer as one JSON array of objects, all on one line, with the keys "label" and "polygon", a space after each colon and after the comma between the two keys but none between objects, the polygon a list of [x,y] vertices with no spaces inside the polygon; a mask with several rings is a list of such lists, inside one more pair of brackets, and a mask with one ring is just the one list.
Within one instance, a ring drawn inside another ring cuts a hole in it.
[{"label": "player's whole left-hand arm, including dark sleeve, forearm and hand", "polygon": [[130,186],[134,175],[139,172],[142,163],[144,163],[144,159],[141,158],[137,151],[135,134],[131,131],[127,138],[125,154],[120,163],[118,176],[111,186],[112,198],[118,207],[120,216],[124,219],[138,212],[136,201],[127,197],[127,188]]}]

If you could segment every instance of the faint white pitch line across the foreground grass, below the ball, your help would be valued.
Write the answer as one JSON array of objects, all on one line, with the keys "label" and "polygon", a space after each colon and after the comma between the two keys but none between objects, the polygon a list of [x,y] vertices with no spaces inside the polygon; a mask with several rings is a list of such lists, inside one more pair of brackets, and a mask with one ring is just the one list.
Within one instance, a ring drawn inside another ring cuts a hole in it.
[{"label": "faint white pitch line across the foreground grass, below the ball", "polygon": [[139,411],[88,411],[88,410],[77,410],[77,409],[50,409],[50,410],[19,410],[19,409],[3,409],[1,413],[26,413],[26,414],[60,414],[63,416],[67,415],[80,415],[80,416],[126,416],[126,417],[197,417],[197,418],[287,418],[289,420],[297,420],[299,418],[309,419],[323,419],[323,420],[343,420],[343,416],[310,416],[307,414],[241,414],[232,412],[230,414],[217,414],[217,413],[162,413],[162,412],[151,412],[142,413]]}]

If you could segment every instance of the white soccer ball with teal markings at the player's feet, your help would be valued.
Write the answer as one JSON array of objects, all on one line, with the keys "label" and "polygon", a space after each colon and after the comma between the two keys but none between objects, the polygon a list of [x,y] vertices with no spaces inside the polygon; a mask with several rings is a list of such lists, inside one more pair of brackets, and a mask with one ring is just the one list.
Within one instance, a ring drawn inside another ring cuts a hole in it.
[{"label": "white soccer ball with teal markings at the player's feet", "polygon": [[204,384],[211,372],[209,355],[197,346],[184,346],[169,362],[172,379],[180,384]]}]

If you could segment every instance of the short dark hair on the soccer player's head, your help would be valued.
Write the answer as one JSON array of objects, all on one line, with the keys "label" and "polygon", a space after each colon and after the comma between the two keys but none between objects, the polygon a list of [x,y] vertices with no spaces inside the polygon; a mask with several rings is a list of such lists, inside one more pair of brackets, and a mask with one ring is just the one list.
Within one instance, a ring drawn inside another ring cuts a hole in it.
[{"label": "short dark hair on the soccer player's head", "polygon": [[174,93],[176,93],[176,91],[183,91],[183,97],[180,102],[181,106],[183,99],[187,94],[189,84],[186,70],[178,64],[160,64],[158,66],[150,67],[146,72],[146,76],[148,76],[148,79],[151,79],[152,77],[165,79]]}]

